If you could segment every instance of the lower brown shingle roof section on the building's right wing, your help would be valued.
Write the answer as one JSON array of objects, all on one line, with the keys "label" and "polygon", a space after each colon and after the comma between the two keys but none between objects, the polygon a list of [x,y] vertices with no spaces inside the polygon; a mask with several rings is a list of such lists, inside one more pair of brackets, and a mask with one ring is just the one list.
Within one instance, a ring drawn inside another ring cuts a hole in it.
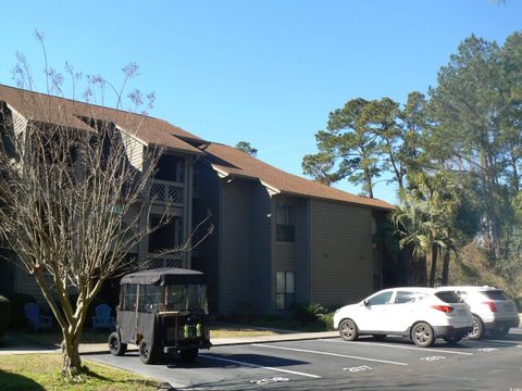
[{"label": "lower brown shingle roof section on the building's right wing", "polygon": [[349,192],[285,173],[228,146],[210,143],[203,150],[208,153],[206,159],[212,167],[223,175],[259,179],[264,186],[283,193],[349,202],[384,210],[394,209],[391,204],[378,199],[350,194]]}]

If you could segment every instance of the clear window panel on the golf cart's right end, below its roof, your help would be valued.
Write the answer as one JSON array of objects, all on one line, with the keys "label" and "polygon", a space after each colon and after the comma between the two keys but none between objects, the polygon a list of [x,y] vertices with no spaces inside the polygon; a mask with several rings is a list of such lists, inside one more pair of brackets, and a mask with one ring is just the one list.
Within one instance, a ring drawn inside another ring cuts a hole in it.
[{"label": "clear window panel on the golf cart's right end, below its roof", "polygon": [[167,286],[165,304],[167,311],[202,310],[207,314],[207,287],[203,285]]}]

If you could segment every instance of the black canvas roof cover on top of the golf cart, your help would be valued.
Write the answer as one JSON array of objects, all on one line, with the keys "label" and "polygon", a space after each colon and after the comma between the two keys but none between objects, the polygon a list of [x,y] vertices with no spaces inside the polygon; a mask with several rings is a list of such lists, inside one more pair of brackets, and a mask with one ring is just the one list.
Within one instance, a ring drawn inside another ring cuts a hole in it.
[{"label": "black canvas roof cover on top of the golf cart", "polygon": [[189,270],[177,267],[163,267],[156,269],[145,269],[135,272],[124,276],[121,285],[139,283],[139,285],[200,285],[203,283],[203,274],[201,272]]}]

